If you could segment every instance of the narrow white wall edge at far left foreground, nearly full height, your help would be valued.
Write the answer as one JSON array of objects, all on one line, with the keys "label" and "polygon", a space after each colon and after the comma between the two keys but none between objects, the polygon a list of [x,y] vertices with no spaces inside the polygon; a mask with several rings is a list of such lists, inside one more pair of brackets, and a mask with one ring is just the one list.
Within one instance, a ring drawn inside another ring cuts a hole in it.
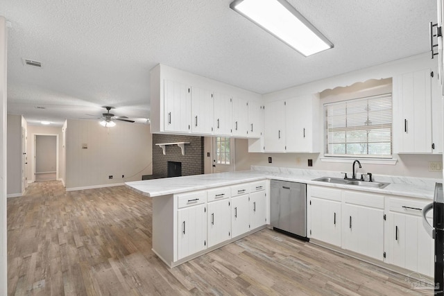
[{"label": "narrow white wall edge at far left foreground, nearly full height", "polygon": [[6,61],[8,32],[6,19],[0,16],[0,295],[8,295],[6,257]]}]

